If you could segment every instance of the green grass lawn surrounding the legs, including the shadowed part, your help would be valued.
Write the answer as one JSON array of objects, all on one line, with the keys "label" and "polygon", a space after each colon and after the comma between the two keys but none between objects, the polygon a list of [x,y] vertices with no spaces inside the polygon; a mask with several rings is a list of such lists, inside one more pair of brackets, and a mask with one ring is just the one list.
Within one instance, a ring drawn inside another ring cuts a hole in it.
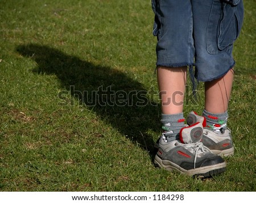
[{"label": "green grass lawn surrounding the legs, including the shadowed part", "polygon": [[[150,1],[1,1],[0,191],[255,191],[256,3],[244,3],[229,106],[236,154],[224,174],[193,179],[152,164],[160,105]],[[105,102],[107,87],[141,99],[90,107],[101,86]],[[203,84],[199,96],[187,95],[185,115],[203,110]]]}]

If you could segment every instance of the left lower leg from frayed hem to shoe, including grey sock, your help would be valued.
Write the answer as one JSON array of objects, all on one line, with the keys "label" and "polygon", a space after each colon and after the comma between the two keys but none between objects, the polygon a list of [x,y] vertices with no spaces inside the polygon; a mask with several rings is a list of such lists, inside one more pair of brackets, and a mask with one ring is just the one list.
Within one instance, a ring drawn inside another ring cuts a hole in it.
[{"label": "left lower leg from frayed hem to shoe, including grey sock", "polygon": [[157,69],[158,87],[162,106],[162,128],[168,142],[179,139],[184,127],[183,103],[187,67],[164,67]]}]

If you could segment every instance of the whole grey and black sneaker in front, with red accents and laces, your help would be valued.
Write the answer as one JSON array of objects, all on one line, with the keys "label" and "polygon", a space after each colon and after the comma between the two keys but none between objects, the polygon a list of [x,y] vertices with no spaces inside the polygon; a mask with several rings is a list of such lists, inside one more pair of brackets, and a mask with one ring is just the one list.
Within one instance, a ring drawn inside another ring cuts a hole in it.
[{"label": "whole grey and black sneaker in front, with red accents and laces", "polygon": [[164,133],[159,139],[154,163],[168,171],[196,177],[210,177],[226,170],[226,162],[200,142],[203,126],[200,122],[180,130],[180,141],[167,142]]}]

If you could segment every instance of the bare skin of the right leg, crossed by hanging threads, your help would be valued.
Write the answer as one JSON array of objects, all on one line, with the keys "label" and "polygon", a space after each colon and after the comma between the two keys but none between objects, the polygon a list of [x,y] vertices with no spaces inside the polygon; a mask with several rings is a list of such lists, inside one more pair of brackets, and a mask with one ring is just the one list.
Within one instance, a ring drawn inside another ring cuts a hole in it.
[{"label": "bare skin of the right leg, crossed by hanging threads", "polygon": [[224,77],[205,82],[205,110],[211,113],[224,113],[232,91],[234,70],[230,69]]}]

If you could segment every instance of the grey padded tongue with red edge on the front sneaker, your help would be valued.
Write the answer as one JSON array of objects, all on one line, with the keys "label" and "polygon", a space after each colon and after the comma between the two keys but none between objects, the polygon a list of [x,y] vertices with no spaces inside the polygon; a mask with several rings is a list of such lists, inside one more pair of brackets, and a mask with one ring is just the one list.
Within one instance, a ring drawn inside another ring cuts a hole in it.
[{"label": "grey padded tongue with red edge on the front sneaker", "polygon": [[180,141],[184,144],[200,142],[202,137],[203,125],[200,122],[180,129]]}]

